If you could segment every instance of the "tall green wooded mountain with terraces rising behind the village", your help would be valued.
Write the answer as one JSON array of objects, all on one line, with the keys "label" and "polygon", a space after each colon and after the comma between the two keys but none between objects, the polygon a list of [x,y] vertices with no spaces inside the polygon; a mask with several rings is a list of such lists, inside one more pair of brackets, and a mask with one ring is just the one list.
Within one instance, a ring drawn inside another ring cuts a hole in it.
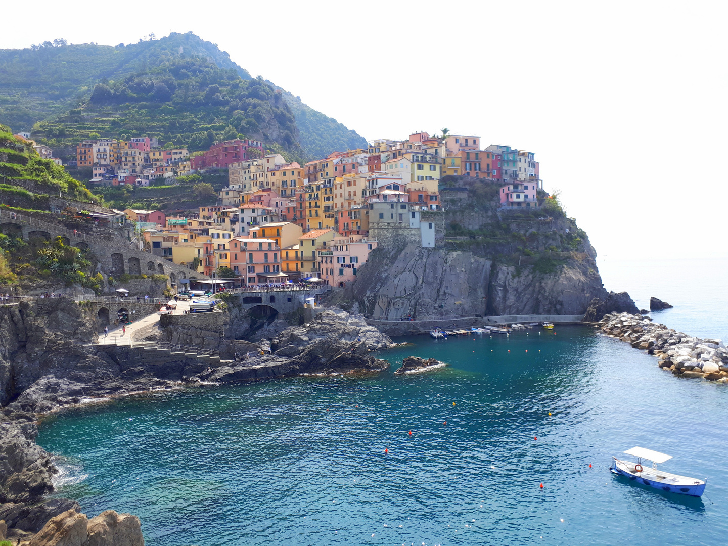
[{"label": "tall green wooded mountain with terraces rising behind the village", "polygon": [[194,149],[205,143],[200,133],[221,137],[228,125],[297,159],[366,145],[289,92],[251,79],[226,52],[192,33],[127,46],[57,41],[0,50],[0,74],[0,122],[17,131],[44,121],[33,137],[50,146],[95,132],[146,134]]}]

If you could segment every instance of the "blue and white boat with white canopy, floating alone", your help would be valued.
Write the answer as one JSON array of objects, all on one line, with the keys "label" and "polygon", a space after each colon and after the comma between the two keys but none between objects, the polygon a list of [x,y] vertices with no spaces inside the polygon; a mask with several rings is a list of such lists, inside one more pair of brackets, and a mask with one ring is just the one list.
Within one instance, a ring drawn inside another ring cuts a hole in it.
[{"label": "blue and white boat with white canopy, floating alone", "polygon": [[[705,491],[704,480],[657,470],[657,464],[672,459],[671,455],[640,447],[628,449],[625,454],[636,456],[637,462],[622,461],[617,457],[612,457],[614,466],[610,467],[609,470],[612,470],[614,474],[626,476],[630,480],[644,483],[644,485],[655,489],[680,495],[701,496]],[[641,463],[644,460],[652,461],[652,468],[643,467]]]}]

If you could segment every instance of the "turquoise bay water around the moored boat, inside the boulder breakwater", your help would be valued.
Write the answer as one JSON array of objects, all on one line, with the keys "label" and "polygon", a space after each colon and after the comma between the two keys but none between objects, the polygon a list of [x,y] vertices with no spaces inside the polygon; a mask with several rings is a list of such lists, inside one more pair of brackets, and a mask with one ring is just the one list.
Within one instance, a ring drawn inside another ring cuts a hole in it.
[{"label": "turquoise bay water around the moored boat, inside the boulder breakwater", "polygon": [[[38,440],[63,456],[59,495],[139,515],[154,546],[726,543],[727,385],[579,326],[397,341],[414,345],[393,364],[450,367],[128,397],[44,419]],[[633,446],[708,478],[705,496],[611,475]]]}]

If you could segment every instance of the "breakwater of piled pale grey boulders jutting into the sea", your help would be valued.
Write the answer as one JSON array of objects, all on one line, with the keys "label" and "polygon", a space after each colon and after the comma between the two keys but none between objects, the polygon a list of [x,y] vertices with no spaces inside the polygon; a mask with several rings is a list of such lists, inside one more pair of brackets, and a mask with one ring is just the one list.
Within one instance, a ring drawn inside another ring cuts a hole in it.
[{"label": "breakwater of piled pale grey boulders jutting into the sea", "polygon": [[598,323],[607,336],[659,359],[675,376],[728,383],[728,349],[720,339],[701,339],[629,313],[606,314]]}]

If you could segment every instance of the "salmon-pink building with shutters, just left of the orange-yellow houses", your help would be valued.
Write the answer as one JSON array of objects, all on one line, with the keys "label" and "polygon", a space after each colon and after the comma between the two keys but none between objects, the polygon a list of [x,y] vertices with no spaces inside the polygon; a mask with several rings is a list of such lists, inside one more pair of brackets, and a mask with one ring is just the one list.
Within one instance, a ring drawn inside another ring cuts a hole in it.
[{"label": "salmon-pink building with shutters, just left of the orange-yellow houses", "polygon": [[234,237],[230,242],[230,268],[243,286],[278,284],[288,275],[280,270],[280,248],[272,239]]}]

